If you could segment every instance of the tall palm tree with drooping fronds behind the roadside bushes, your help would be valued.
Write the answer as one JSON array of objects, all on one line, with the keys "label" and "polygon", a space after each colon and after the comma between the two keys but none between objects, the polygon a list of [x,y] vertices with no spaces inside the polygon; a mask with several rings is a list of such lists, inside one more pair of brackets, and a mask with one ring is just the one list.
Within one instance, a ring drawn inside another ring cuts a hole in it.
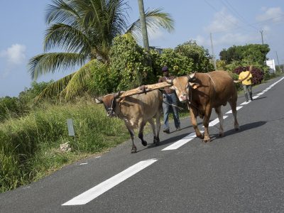
[{"label": "tall palm tree with drooping fronds behind the roadside bushes", "polygon": [[[58,93],[63,97],[77,94],[89,77],[89,66],[109,63],[109,50],[116,35],[131,33],[133,38],[141,38],[139,19],[127,24],[129,9],[125,0],[52,0],[46,13],[44,53],[29,60],[28,70],[32,79],[37,80],[48,72],[81,68],[50,84],[39,98]],[[161,11],[146,11],[147,27],[172,31],[173,19]],[[53,48],[65,52],[47,53]]]}]

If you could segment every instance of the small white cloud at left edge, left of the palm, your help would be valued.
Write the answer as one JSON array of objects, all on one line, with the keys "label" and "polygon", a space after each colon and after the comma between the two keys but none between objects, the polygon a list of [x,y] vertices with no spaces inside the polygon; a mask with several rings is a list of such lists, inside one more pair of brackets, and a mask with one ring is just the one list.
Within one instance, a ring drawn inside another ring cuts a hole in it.
[{"label": "small white cloud at left edge, left of the palm", "polygon": [[21,65],[26,60],[26,46],[13,44],[10,48],[2,50],[0,57],[5,58],[9,65]]}]

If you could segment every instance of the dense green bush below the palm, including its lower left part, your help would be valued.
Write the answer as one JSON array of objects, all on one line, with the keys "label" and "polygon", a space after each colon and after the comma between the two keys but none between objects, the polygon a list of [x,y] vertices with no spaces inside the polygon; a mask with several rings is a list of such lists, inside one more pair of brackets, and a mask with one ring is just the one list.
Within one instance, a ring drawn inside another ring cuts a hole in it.
[{"label": "dense green bush below the palm, including its lower left part", "polygon": [[128,35],[117,36],[109,51],[109,66],[91,67],[87,87],[101,95],[155,82],[151,57]]}]

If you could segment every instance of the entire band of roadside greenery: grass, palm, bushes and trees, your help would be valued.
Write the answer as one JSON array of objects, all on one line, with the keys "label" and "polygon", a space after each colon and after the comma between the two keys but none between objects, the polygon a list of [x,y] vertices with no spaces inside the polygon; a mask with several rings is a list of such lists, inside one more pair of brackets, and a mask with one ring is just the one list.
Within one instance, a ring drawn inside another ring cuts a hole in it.
[{"label": "entire band of roadside greenery: grass, palm, bushes and trees", "polygon": [[[29,72],[36,80],[47,72],[81,67],[56,82],[33,82],[18,97],[0,98],[0,192],[39,180],[66,164],[104,153],[129,139],[123,121],[109,119],[104,107],[94,104],[94,97],[153,84],[165,65],[175,76],[214,69],[209,51],[194,40],[161,52],[155,48],[146,52],[136,40],[134,29],[139,22],[126,28],[122,0],[121,4],[110,4],[114,8],[109,10],[100,5],[104,1],[52,2],[44,48],[66,52],[36,55],[29,62]],[[101,25],[94,13],[105,18],[102,23],[114,23]],[[147,17],[148,27],[173,30],[168,13],[148,11]],[[253,83],[261,84],[282,75],[283,65],[276,67],[276,74],[269,72],[265,64],[269,51],[268,45],[258,44],[224,49],[217,69],[227,70],[237,80],[242,67],[253,65]],[[240,84],[237,87],[241,90]],[[186,109],[181,116],[188,116]],[[73,121],[75,138],[68,136],[67,119]],[[60,149],[62,144],[67,144],[67,151]]]}]

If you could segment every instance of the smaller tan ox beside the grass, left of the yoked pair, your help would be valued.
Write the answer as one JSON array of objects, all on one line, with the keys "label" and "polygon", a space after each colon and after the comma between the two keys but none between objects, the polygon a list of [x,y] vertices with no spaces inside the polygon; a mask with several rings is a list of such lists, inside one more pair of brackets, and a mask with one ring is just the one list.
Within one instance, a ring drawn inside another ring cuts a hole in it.
[{"label": "smaller tan ox beside the grass, left of the yoked pair", "polygon": [[[160,143],[160,116],[162,114],[163,102],[161,92],[153,90],[146,94],[135,94],[119,98],[123,93],[107,94],[102,98],[96,98],[96,102],[97,104],[104,104],[107,116],[118,116],[119,119],[124,121],[131,136],[131,153],[136,153],[137,151],[134,144],[134,129],[136,128],[138,128],[138,138],[141,139],[143,146],[147,146],[147,141],[143,139],[143,129],[147,122],[151,124],[153,130],[153,142],[158,146]],[[155,119],[155,123],[153,119]]]}]

